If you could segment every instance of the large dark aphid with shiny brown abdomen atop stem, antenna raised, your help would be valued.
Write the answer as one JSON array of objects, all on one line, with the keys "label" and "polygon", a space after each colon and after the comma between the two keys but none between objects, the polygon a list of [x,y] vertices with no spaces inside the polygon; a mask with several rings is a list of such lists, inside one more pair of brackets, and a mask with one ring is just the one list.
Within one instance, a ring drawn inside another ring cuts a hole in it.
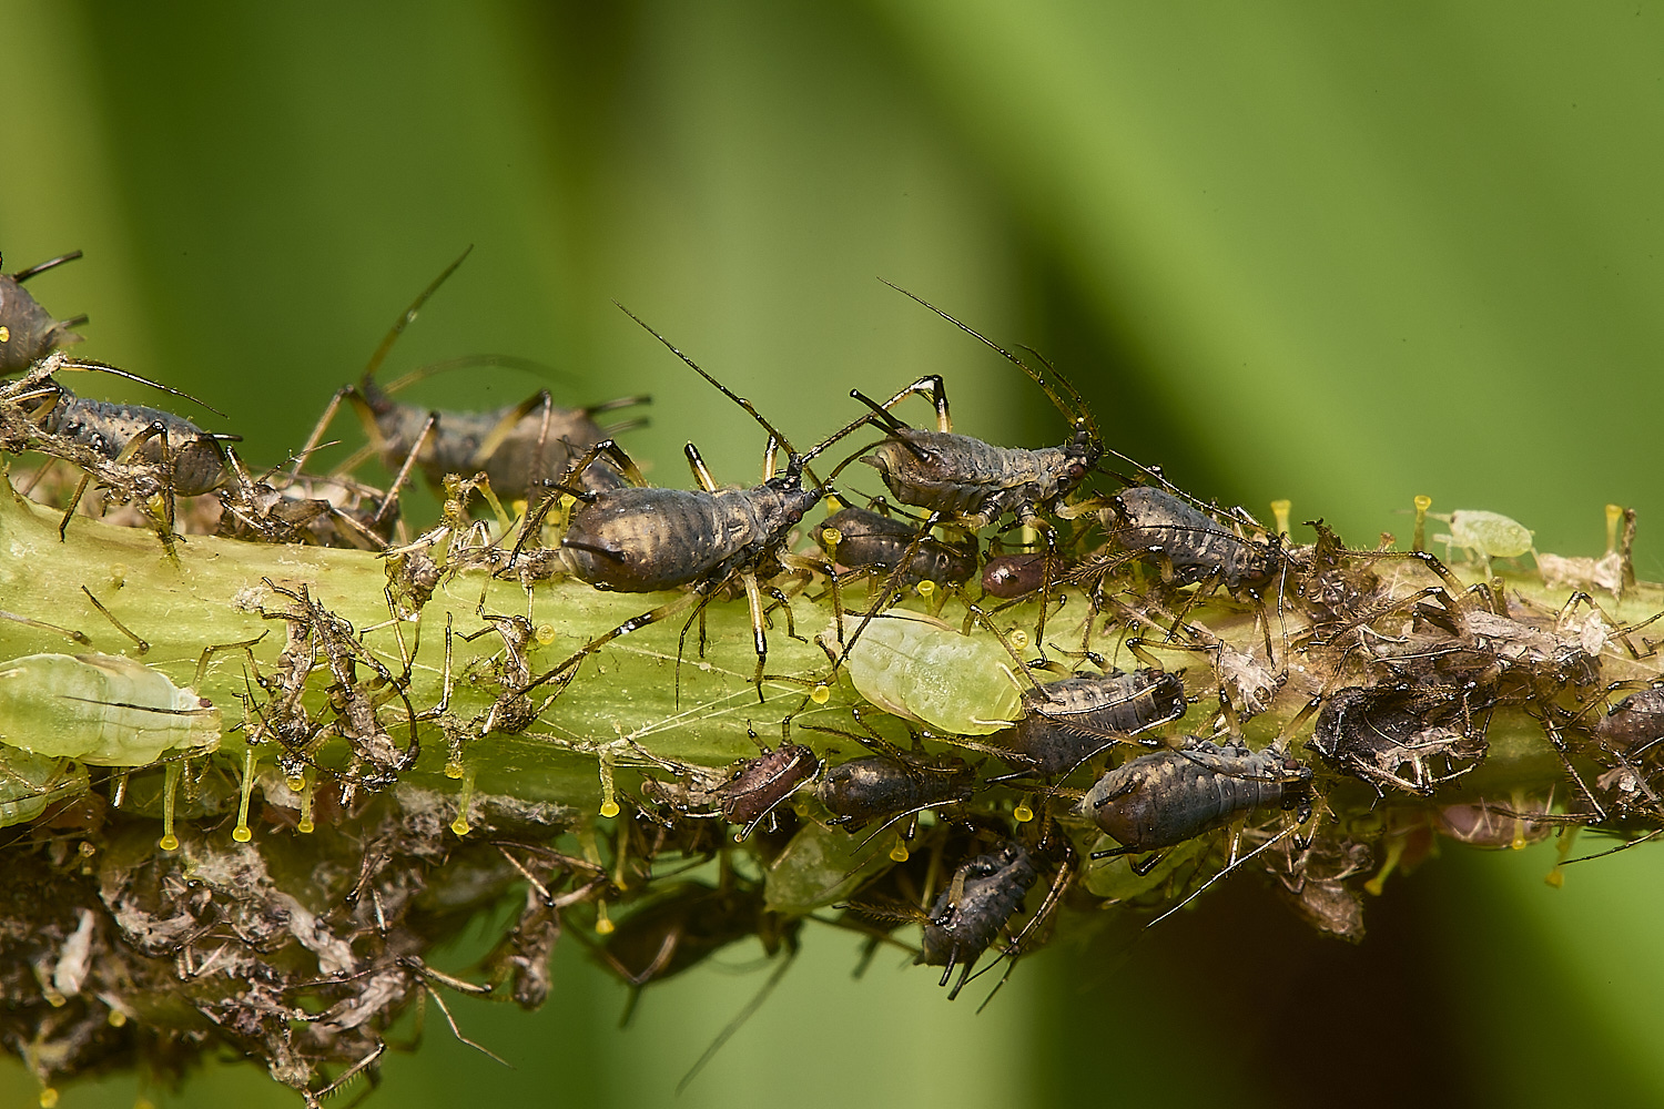
[{"label": "large dark aphid with shiny brown abdomen atop stem, antenna raised", "polygon": [[[636,319],[636,323],[641,321]],[[697,615],[719,590],[737,580],[750,605],[750,628],[757,648],[757,672],[752,682],[757,685],[757,698],[760,700],[762,668],[769,657],[769,643],[764,630],[764,587],[759,582],[785,570],[802,577],[807,577],[810,570],[830,570],[824,562],[787,552],[785,544],[809,509],[819,504],[824,495],[824,489],[819,485],[804,489],[802,479],[810,459],[854,431],[855,424],[834,432],[807,454],[797,454],[790,441],[775,431],[752,407],[750,401],[730,392],[727,386],[701,369],[652,328],[641,326],[694,372],[716,386],[722,396],[762,424],[764,431],[769,432],[769,444],[764,451],[764,479],[760,485],[750,489],[721,489],[711,471],[706,469],[699,449],[689,442],[686,447],[687,464],[699,481],[697,490],[636,485],[599,492],[567,489],[582,502],[572,512],[566,537],[561,540],[562,562],[574,577],[596,589],[626,594],[657,592],[681,585],[691,585],[692,592],[689,597],[644,612],[599,635],[537,678],[537,683],[554,678],[571,680],[584,658],[619,635],[662,620],[689,604],[697,605]],[[785,449],[784,474],[775,474],[774,469],[779,447]],[[579,469],[587,467],[602,454],[616,454],[627,462],[627,456],[606,441],[584,454]],[[779,589],[769,592],[775,600],[785,602],[785,595]],[[682,625],[684,642],[691,625],[692,617]],[[681,658],[681,647],[677,647],[677,658]]]}]

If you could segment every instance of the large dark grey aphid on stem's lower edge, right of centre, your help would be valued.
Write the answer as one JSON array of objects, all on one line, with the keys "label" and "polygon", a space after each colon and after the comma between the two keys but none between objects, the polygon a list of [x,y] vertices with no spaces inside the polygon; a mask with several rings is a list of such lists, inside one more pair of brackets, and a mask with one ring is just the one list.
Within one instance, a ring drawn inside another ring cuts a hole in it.
[{"label": "large dark grey aphid on stem's lower edge, right of centre", "polygon": [[1200,836],[1251,808],[1311,810],[1311,766],[1275,748],[1185,737],[1178,750],[1117,766],[1077,811],[1122,846],[1092,858],[1158,851]]}]

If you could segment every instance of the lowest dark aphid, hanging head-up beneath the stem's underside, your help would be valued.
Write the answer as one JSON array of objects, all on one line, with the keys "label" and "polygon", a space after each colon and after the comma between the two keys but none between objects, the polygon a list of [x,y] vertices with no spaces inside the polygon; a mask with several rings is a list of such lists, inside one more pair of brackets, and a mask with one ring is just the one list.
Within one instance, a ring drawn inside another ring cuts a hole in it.
[{"label": "lowest dark aphid, hanging head-up beneath the stem's underside", "polygon": [[947,890],[930,906],[924,949],[915,959],[943,968],[942,986],[953,976],[953,968],[960,968],[958,981],[947,994],[948,1001],[958,996],[977,959],[1022,909],[1035,878],[1038,873],[1020,843],[1005,843],[953,871]]}]

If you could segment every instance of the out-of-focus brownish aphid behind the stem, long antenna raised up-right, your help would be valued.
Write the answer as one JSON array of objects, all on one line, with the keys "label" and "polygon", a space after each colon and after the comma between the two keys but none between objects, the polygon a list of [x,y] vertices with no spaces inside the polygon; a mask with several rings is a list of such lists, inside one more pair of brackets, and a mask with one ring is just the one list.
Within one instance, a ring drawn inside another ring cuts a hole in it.
[{"label": "out-of-focus brownish aphid behind the stem, long antenna raised up-right", "polygon": [[[546,367],[508,356],[483,356],[453,359],[406,374],[398,382],[386,387],[376,382],[376,371],[393,351],[394,343],[404,333],[423,306],[428,303],[446,278],[468,258],[469,246],[456,261],[423,289],[409,308],[394,321],[393,328],[381,339],[364,367],[356,386],[343,386],[324,406],[318,426],[313,427],[301,451],[301,457],[311,452],[323,441],[324,431],[334,419],[341,401],[351,404],[358,412],[364,432],[369,436],[369,451],[381,456],[381,461],[394,474],[406,474],[414,464],[429,485],[434,489],[444,484],[446,474],[484,472],[491,487],[499,497],[513,500],[529,500],[537,490],[566,481],[571,464],[589,447],[607,439],[611,434],[637,426],[629,421],[611,429],[602,429],[594,417],[622,407],[647,404],[651,397],[634,396],[594,404],[582,409],[557,407],[547,389],[541,389],[519,404],[483,412],[456,412],[426,409],[413,404],[399,404],[393,394],[421,377],[463,366],[493,364],[521,369],[544,371]],[[349,461],[341,469],[349,471],[356,464]],[[591,466],[584,474],[574,476],[584,489],[617,489],[627,482],[627,474],[614,467],[609,461]]]}]

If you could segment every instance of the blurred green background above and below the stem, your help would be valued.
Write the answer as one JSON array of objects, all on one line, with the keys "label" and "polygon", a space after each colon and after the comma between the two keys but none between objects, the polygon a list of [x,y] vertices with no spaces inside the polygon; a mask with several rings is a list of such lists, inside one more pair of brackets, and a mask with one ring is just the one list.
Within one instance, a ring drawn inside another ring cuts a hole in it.
[{"label": "blurred green background above and below the stem", "polygon": [[[1601,554],[1616,500],[1664,577],[1654,3],[0,0],[0,60],[7,268],[85,249],[30,284],[92,313],[80,351],[223,409],[255,462],[469,243],[393,367],[501,351],[552,366],[562,401],[651,391],[629,446],[666,484],[682,439],[735,482],[760,439],[612,299],[800,446],[850,387],[922,372],[962,431],[1063,437],[884,276],[1045,351],[1112,446],[1200,495],[1291,497],[1371,545],[1424,492],[1561,554]],[[854,983],[852,944],[810,934],[681,1104],[1656,1102],[1657,853],[1561,891],[1548,865],[1446,851],[1388,885],[1359,949],[1238,880],[1145,938],[1025,961],[982,1016],[930,971]],[[757,958],[651,989],[619,1033],[622,989],[567,944],[541,1014],[456,1003],[518,1069],[433,1019],[381,1104],[669,1102]],[[250,1067],[146,1096],[298,1104]],[[0,1109],[33,1102],[0,1064]]]}]

